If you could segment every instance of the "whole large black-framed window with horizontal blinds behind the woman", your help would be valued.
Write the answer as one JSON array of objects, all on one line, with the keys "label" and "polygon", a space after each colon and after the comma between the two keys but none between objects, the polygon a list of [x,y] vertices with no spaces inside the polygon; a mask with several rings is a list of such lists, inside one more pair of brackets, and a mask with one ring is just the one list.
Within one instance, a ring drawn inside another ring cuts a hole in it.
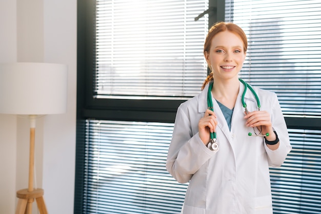
[{"label": "whole large black-framed window with horizontal blinds behind the woman", "polygon": [[321,212],[321,3],[77,2],[74,213],[179,213],[187,184],[166,172],[166,152],[178,105],[206,77],[203,43],[219,20],[246,31],[240,75],[277,93],[289,128],[293,150],[270,169],[274,213]]}]

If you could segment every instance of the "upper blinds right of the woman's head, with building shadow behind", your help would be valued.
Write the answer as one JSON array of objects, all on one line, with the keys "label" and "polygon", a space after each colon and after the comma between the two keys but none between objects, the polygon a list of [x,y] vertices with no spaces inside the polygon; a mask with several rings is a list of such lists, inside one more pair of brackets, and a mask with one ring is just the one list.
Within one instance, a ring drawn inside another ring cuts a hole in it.
[{"label": "upper blinds right of the woman's head, with building shadow behind", "polygon": [[249,42],[240,76],[277,93],[288,115],[321,116],[321,2],[226,1]]}]

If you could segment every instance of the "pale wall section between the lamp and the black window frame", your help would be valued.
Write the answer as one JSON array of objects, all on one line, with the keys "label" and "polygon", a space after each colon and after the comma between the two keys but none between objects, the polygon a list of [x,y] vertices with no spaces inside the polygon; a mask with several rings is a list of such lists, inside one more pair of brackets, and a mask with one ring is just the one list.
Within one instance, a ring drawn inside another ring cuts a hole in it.
[{"label": "pale wall section between the lamp and the black window frame", "polygon": [[50,213],[73,213],[76,147],[76,0],[45,0],[44,60],[68,65],[67,114],[44,126],[43,187]]}]

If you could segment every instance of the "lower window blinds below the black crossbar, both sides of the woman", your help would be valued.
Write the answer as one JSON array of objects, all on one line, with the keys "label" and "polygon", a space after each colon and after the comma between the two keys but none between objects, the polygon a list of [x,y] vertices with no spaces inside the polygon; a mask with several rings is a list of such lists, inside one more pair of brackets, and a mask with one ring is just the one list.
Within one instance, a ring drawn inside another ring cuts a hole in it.
[{"label": "lower window blinds below the black crossbar, both sides of the woman", "polygon": [[[83,213],[179,213],[187,184],[166,171],[173,124],[88,120]],[[274,214],[321,212],[321,130],[289,129],[292,151],[271,168]]]}]

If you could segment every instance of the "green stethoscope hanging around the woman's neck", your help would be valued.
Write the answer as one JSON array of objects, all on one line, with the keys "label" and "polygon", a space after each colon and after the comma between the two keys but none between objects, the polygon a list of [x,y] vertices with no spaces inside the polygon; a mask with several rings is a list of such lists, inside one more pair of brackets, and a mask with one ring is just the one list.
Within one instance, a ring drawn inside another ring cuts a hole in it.
[{"label": "green stethoscope hanging around the woman's neck", "polygon": [[[245,112],[246,114],[249,113],[248,109],[247,109],[247,105],[246,105],[246,102],[244,100],[244,97],[245,97],[245,93],[247,91],[247,89],[249,88],[251,90],[251,92],[253,93],[253,95],[255,96],[255,100],[256,100],[256,103],[257,103],[257,108],[258,110],[260,110],[260,102],[259,102],[259,99],[258,99],[258,96],[256,94],[256,92],[254,91],[254,89],[249,85],[247,84],[244,80],[242,79],[238,79],[243,85],[244,85],[244,91],[243,91],[243,94],[242,94],[242,105],[243,107],[245,108]],[[210,110],[214,110],[214,107],[213,107],[213,101],[212,101],[212,94],[211,94],[211,91],[212,91],[212,88],[213,88],[213,83],[209,85],[209,88],[208,88],[208,92],[207,92],[207,105],[208,105],[208,109]],[[261,130],[257,129],[258,131],[255,130],[255,128],[253,127],[253,130],[254,130],[254,134],[252,134],[251,132],[248,133],[249,136],[254,136],[254,137],[265,137],[265,136],[268,136],[269,133],[266,133],[266,134],[263,134],[262,133],[262,128]],[[208,144],[208,148],[213,150],[213,151],[217,151],[218,150],[218,144],[216,143],[216,132],[211,132],[210,133],[210,143]]]}]

